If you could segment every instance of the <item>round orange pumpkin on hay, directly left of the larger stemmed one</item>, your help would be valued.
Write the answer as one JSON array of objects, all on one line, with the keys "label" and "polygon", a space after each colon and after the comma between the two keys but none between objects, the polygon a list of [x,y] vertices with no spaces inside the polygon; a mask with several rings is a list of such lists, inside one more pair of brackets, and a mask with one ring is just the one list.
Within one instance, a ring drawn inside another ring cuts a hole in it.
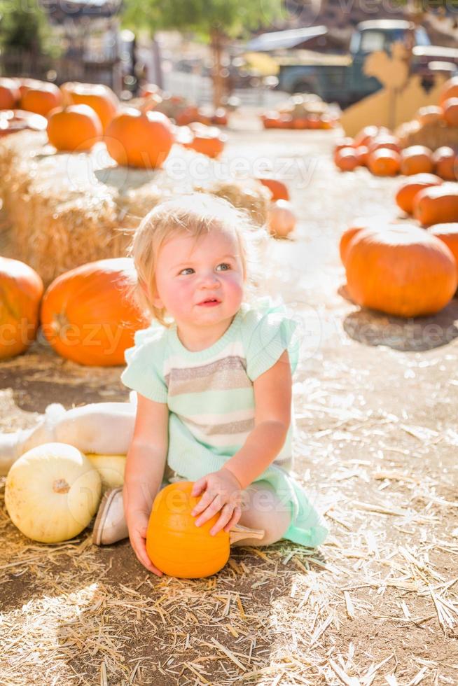
[{"label": "round orange pumpkin on hay, directly left of the larger stemmed one", "polygon": [[90,150],[102,137],[102,124],[88,105],[69,105],[50,112],[48,139],[59,151]]}]

